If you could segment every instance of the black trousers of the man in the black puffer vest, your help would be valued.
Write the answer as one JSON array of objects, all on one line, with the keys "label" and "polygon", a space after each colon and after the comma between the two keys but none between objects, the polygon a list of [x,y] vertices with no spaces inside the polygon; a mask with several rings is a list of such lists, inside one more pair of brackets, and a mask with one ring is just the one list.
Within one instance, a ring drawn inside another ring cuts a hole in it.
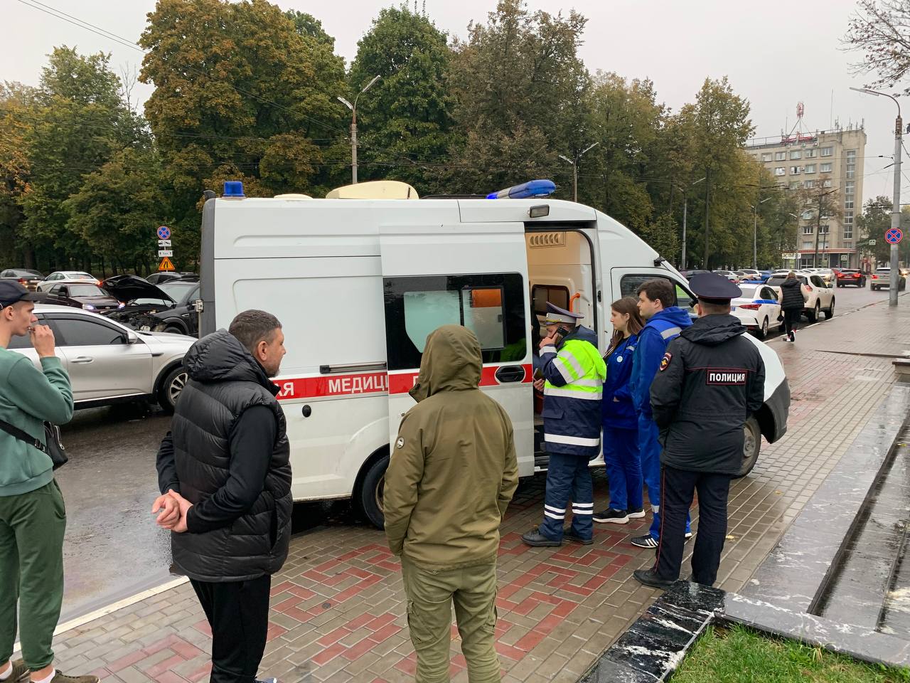
[{"label": "black trousers of the man in the black puffer vest", "polygon": [[209,583],[191,579],[212,627],[211,683],[253,683],[266,649],[272,577]]}]

